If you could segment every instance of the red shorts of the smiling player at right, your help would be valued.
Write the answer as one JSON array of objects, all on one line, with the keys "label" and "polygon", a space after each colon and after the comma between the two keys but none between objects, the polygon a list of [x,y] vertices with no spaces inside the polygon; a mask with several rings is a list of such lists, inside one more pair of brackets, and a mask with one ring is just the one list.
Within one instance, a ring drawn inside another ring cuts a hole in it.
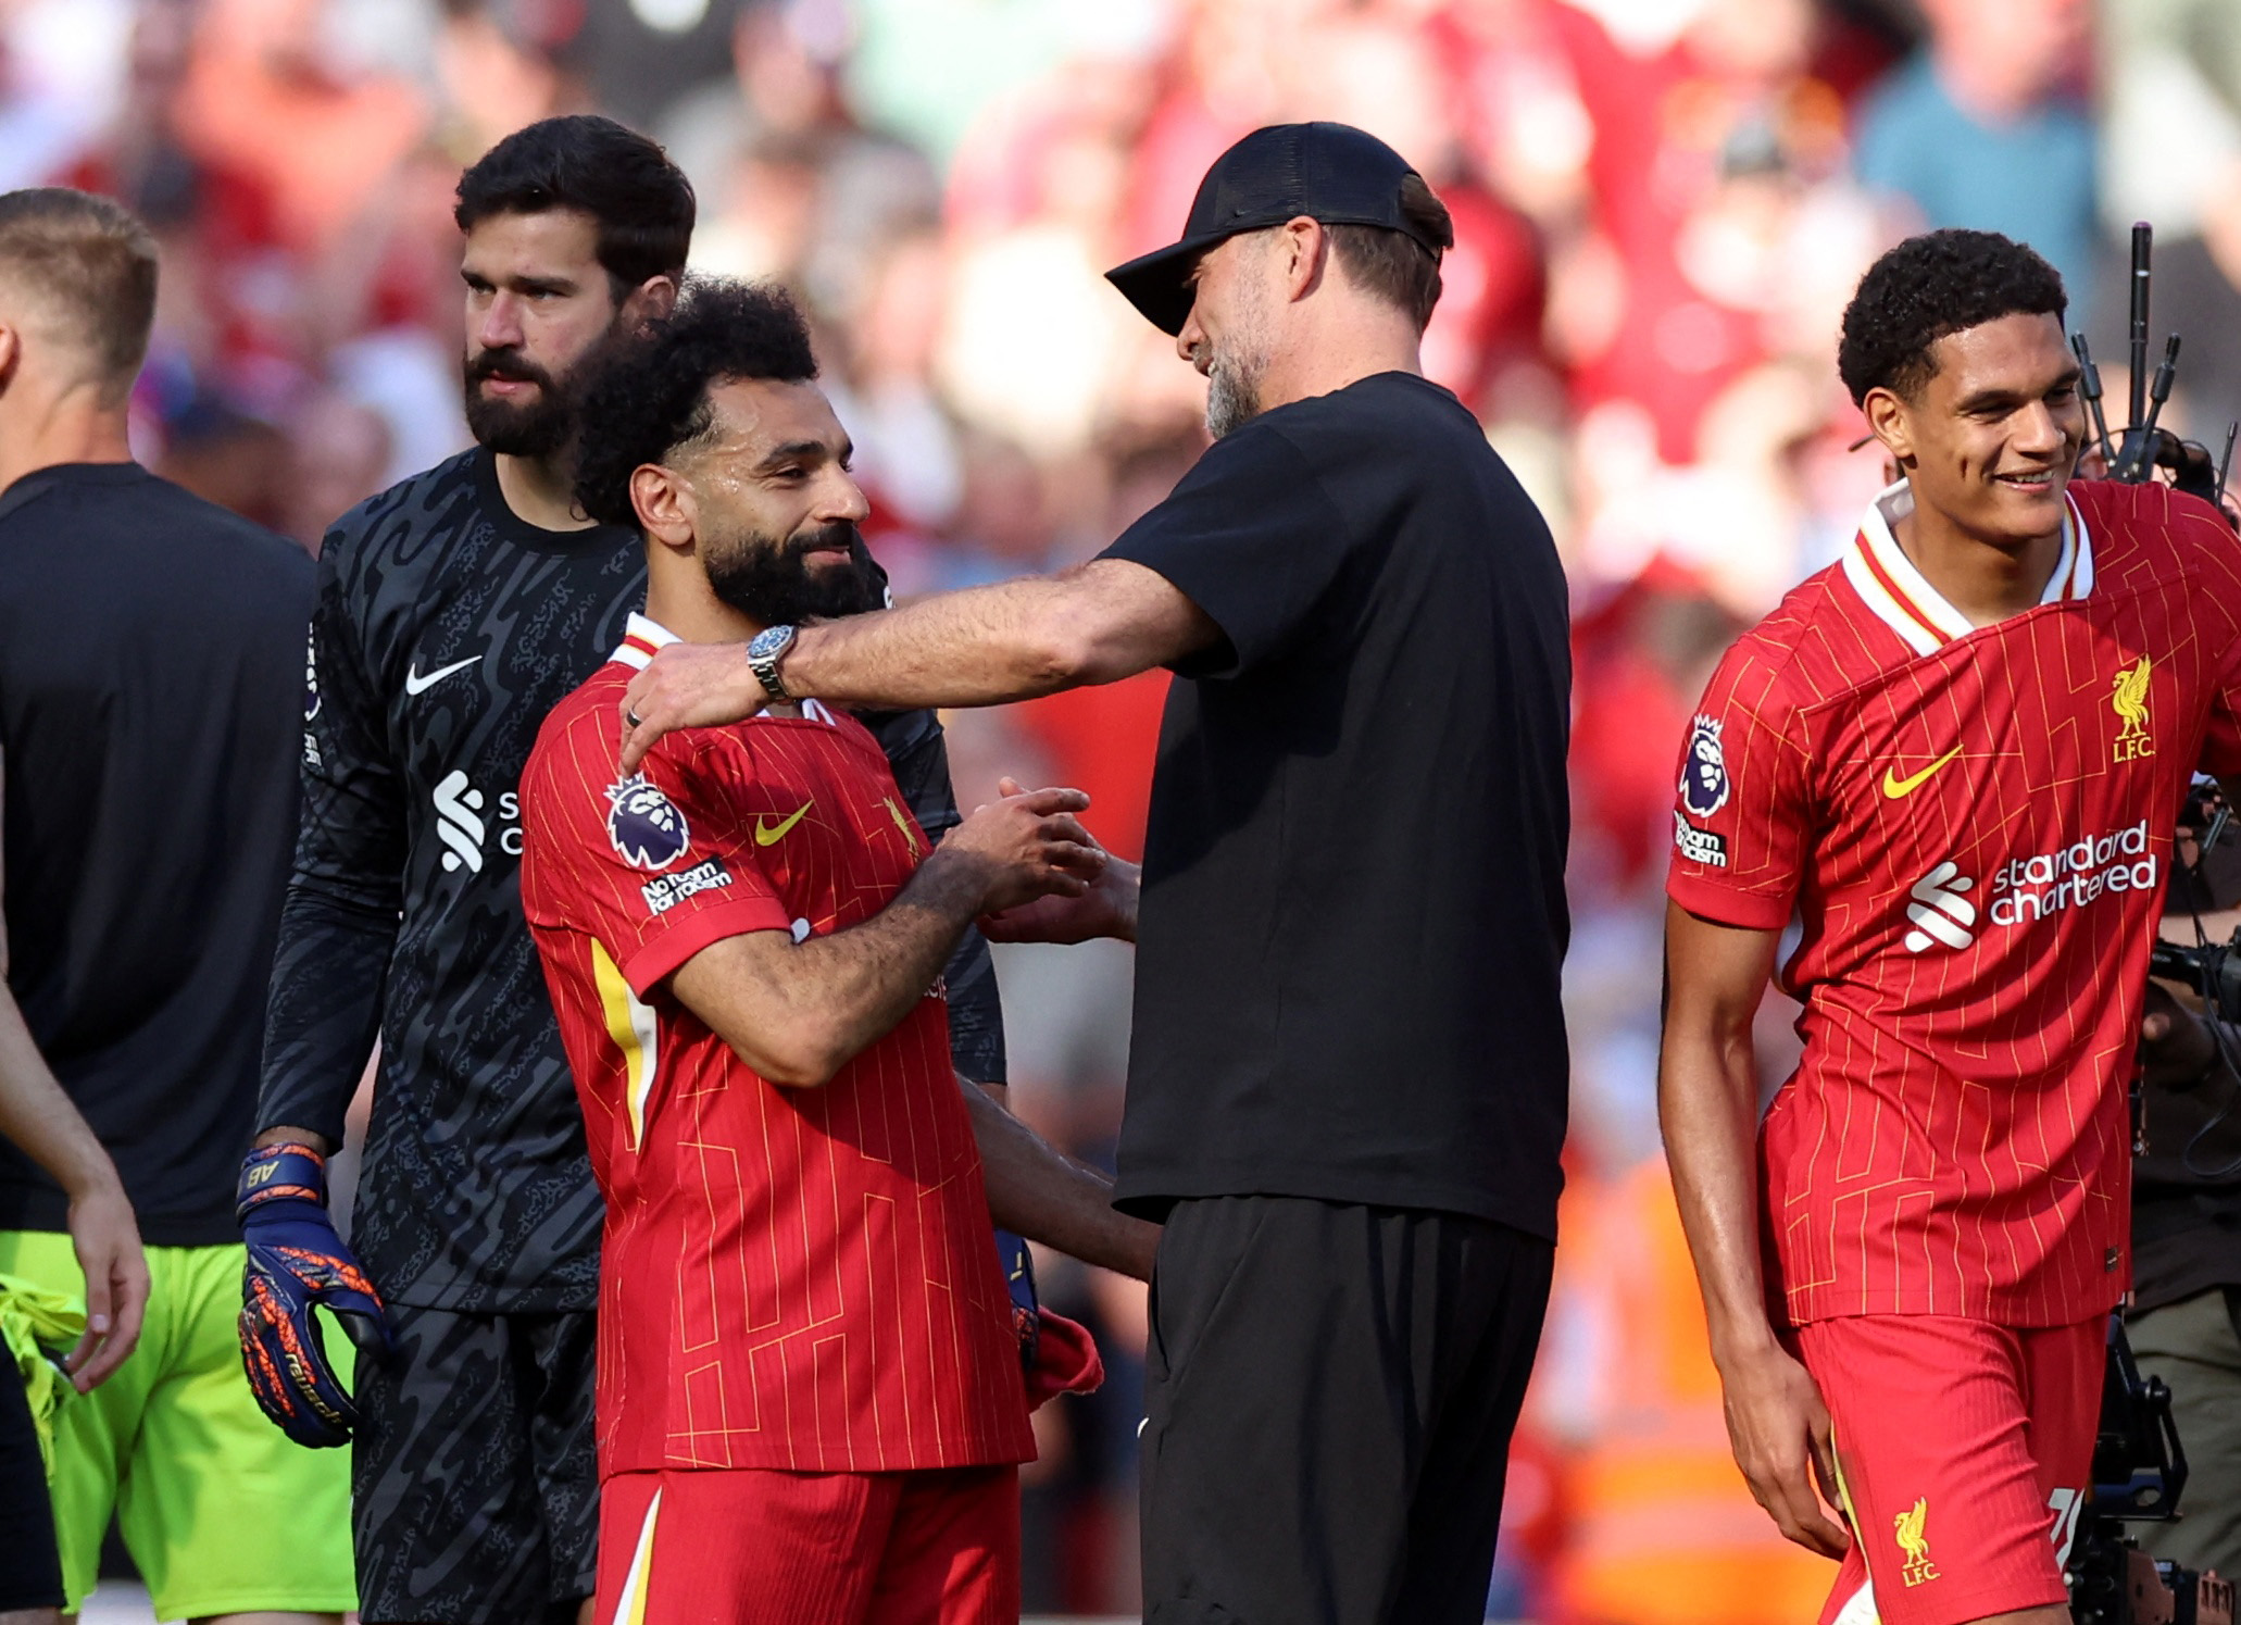
[{"label": "red shorts of the smiling player at right", "polygon": [[1961,1625],[2068,1603],[2107,1316],[1856,1316],[1795,1336],[1835,1419],[1853,1531],[1822,1625]]}]

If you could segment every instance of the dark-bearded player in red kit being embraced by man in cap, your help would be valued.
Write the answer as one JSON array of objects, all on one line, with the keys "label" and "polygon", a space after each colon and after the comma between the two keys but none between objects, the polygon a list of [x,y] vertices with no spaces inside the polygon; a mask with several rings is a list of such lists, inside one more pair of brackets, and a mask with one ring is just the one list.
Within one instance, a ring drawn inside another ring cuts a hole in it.
[{"label": "dark-bearded player in red kit being embraced by man in cap", "polygon": [[1087,798],[928,852],[818,702],[619,773],[654,648],[867,567],[813,379],[782,294],[704,285],[585,412],[580,498],[645,533],[648,601],[529,755],[522,901],[607,1199],[596,1618],[1008,1625],[1033,1439],[991,1208],[1136,1273],[1154,1231],[959,1083],[939,975],[975,914],[1082,890]]}]

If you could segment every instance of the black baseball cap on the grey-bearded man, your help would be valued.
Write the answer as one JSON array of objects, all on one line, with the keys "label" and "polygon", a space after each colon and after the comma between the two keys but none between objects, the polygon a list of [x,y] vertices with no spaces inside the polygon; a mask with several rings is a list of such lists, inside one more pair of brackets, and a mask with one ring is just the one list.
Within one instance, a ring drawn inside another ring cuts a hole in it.
[{"label": "black baseball cap on the grey-bearded man", "polygon": [[1239,231],[1282,226],[1307,215],[1327,226],[1405,231],[1434,256],[1434,242],[1401,211],[1407,159],[1351,123],[1271,123],[1215,159],[1190,199],[1181,242],[1116,264],[1105,280],[1161,332],[1190,321],[1190,271],[1199,256]]}]

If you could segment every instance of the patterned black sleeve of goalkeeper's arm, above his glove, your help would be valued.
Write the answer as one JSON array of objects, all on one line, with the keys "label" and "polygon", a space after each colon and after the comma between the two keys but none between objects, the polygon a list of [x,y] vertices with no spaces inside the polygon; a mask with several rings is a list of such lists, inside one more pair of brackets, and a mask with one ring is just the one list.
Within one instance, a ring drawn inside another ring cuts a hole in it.
[{"label": "patterned black sleeve of goalkeeper's arm, above his glove", "polygon": [[291,1123],[341,1143],[381,1031],[403,903],[406,811],[374,675],[350,616],[347,536],[327,536],[311,610],[303,823],[264,1009],[258,1132]]}]

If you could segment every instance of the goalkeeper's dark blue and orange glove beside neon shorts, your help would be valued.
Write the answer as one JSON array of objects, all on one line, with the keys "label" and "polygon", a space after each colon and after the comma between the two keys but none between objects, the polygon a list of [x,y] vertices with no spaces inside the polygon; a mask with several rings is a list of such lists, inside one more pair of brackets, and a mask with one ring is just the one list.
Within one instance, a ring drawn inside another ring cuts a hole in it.
[{"label": "goalkeeper's dark blue and orange glove beside neon shorts", "polygon": [[381,1293],[327,1217],[327,1159],[294,1143],[249,1152],[233,1213],[249,1246],[242,1275],[249,1392],[296,1443],[350,1443],[359,1408],[327,1361],[311,1311],[325,1304],[361,1354],[394,1345]]}]

